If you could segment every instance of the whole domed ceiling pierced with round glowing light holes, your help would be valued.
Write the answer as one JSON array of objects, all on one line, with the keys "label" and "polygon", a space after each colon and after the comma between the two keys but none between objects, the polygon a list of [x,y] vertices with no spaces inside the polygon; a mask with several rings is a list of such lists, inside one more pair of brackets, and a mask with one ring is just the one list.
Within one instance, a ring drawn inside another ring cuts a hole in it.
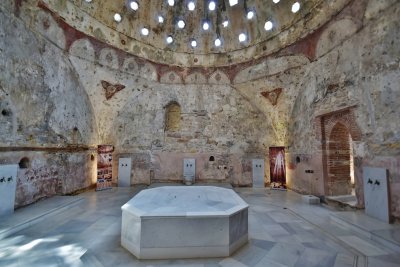
[{"label": "whole domed ceiling pierced with round glowing light holes", "polygon": [[214,67],[276,52],[329,21],[349,0],[43,2],[77,30],[139,57]]}]

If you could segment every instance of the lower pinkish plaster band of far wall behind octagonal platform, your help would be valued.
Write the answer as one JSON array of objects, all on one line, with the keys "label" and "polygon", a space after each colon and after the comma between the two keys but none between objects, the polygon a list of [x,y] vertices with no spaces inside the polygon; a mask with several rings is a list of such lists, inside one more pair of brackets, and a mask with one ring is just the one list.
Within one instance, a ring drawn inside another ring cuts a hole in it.
[{"label": "lower pinkish plaster band of far wall behind octagonal platform", "polygon": [[[264,158],[257,153],[165,152],[120,153],[118,158],[132,159],[131,184],[154,182],[182,182],[183,159],[196,160],[195,182],[230,183],[233,186],[251,186],[252,159]],[[117,172],[117,166],[114,170]],[[267,182],[267,181],[265,181]]]}]

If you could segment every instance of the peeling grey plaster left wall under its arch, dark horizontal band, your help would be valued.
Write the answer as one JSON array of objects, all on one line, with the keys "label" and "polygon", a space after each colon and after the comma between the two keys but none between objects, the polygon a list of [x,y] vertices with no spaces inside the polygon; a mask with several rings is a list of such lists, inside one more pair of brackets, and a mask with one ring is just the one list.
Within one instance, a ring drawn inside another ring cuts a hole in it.
[{"label": "peeling grey plaster left wall under its arch, dark horizontal band", "polygon": [[16,207],[95,182],[91,103],[68,58],[36,27],[0,8],[0,162],[29,159],[18,170]]}]

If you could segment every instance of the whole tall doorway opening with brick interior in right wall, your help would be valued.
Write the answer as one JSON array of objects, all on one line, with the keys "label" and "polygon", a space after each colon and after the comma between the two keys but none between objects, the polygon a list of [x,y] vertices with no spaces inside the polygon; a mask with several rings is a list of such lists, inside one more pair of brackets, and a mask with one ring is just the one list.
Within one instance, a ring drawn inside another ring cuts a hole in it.
[{"label": "whole tall doorway opening with brick interior in right wall", "polygon": [[352,106],[320,115],[316,127],[321,133],[324,195],[335,202],[362,207],[364,192],[360,157],[353,151],[356,142],[361,141],[355,108]]}]

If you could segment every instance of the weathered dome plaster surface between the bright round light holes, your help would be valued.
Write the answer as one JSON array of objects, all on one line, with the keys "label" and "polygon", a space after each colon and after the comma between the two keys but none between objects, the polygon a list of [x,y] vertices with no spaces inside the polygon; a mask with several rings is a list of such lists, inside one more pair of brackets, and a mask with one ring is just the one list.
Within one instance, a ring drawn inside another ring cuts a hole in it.
[{"label": "weathered dome plaster surface between the bright round light holes", "polygon": [[[36,0],[37,1],[37,0]],[[33,1],[35,2],[35,1]],[[196,11],[191,12],[186,18],[185,30],[176,31],[174,42],[168,45],[165,42],[165,29],[176,26],[176,17],[182,16],[185,5],[180,5],[166,12],[165,23],[159,24],[155,17],[164,6],[162,1],[148,1],[140,3],[140,12],[131,13],[125,3],[113,2],[87,2],[42,0],[40,7],[61,16],[69,25],[91,37],[100,39],[113,47],[129,51],[142,58],[153,62],[178,66],[227,66],[239,62],[250,61],[254,58],[270,55],[279,51],[283,46],[294,43],[299,38],[307,35],[329,21],[341,11],[350,0],[336,0],[326,4],[323,0],[310,0],[302,3],[302,8],[297,14],[289,12],[291,2],[280,2],[279,5],[271,1],[253,1],[251,5],[258,9],[257,20],[247,20],[244,6],[232,8],[220,3],[218,11],[228,9],[228,18],[231,21],[227,28],[219,27],[218,31],[224,38],[224,46],[215,47],[215,34],[204,34],[201,22],[204,20],[206,4],[199,1]],[[250,4],[249,4],[250,5]],[[21,8],[24,8],[22,5]],[[115,23],[113,14],[119,12],[123,19]],[[213,31],[221,23],[217,20],[217,12],[210,14]],[[222,13],[222,12],[221,12]],[[220,15],[222,15],[220,13]],[[277,17],[278,25],[273,31],[266,32],[264,23]],[[147,25],[150,30],[145,38],[140,30]],[[238,42],[238,33],[246,32],[248,41],[245,44]],[[191,38],[198,39],[196,49],[189,45]],[[201,41],[200,41],[201,40]]]}]

